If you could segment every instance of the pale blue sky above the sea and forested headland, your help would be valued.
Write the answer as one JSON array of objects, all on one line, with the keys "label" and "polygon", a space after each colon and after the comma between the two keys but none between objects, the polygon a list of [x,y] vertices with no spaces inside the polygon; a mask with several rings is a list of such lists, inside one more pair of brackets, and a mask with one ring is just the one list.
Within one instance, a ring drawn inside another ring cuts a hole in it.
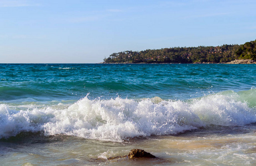
[{"label": "pale blue sky above the sea and forested headland", "polygon": [[255,0],[0,0],[0,63],[101,63],[112,53],[256,39]]}]

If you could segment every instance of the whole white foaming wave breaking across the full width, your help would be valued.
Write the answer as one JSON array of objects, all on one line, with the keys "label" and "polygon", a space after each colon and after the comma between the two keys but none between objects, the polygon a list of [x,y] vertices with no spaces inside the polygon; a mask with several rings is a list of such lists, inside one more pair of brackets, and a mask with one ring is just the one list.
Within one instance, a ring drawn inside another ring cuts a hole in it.
[{"label": "whole white foaming wave breaking across the full width", "polygon": [[0,138],[44,132],[122,142],[133,137],[178,134],[200,127],[243,126],[256,122],[256,89],[224,91],[188,101],[81,100],[47,107],[0,105]]}]

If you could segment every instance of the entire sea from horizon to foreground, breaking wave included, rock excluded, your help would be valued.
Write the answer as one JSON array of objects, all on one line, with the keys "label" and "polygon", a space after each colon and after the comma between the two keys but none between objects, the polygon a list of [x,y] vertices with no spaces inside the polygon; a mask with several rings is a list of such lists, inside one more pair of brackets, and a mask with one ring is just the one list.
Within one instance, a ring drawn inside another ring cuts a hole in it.
[{"label": "entire sea from horizon to foreground, breaking wave included, rock excluded", "polygon": [[256,165],[256,65],[0,64],[0,165]]}]

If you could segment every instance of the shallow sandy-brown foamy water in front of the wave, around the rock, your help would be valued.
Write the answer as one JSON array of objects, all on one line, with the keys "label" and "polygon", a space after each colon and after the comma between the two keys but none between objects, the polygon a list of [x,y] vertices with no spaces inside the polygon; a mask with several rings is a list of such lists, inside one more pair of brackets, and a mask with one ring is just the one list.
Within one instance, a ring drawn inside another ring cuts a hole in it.
[{"label": "shallow sandy-brown foamy water in front of the wave, around the rock", "polygon": [[[216,127],[178,136],[134,138],[122,143],[29,133],[18,140],[1,142],[1,152],[8,152],[1,154],[1,162],[2,165],[254,165],[255,129],[255,125]],[[158,159],[107,160],[128,155],[133,148],[144,149]]]}]

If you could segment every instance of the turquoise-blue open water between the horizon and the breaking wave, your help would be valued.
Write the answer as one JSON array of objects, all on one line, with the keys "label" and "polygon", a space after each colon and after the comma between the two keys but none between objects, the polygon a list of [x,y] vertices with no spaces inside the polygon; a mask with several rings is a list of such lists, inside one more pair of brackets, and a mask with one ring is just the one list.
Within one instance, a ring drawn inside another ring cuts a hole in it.
[{"label": "turquoise-blue open water between the horizon and the breaking wave", "polygon": [[92,99],[186,100],[249,90],[256,70],[223,64],[2,64],[0,74],[0,101],[79,100],[88,93]]}]

